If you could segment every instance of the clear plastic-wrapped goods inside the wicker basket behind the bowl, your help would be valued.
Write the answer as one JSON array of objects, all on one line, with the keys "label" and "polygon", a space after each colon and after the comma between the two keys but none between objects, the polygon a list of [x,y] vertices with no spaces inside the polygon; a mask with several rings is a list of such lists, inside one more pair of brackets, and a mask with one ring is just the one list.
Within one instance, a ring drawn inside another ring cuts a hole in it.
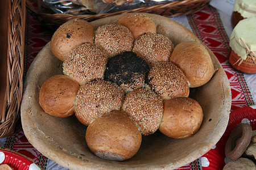
[{"label": "clear plastic-wrapped goods inside the wicker basket behind the bowl", "polygon": [[43,0],[57,14],[104,14],[179,0]]}]

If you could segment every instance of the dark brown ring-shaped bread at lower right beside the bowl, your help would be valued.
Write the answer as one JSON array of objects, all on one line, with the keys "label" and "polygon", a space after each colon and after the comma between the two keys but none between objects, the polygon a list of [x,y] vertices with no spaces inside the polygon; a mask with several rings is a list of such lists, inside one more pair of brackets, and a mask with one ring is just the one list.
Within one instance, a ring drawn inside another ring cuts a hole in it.
[{"label": "dark brown ring-shaped bread at lower right beside the bowl", "polygon": [[237,160],[245,152],[251,141],[252,134],[249,124],[238,124],[230,133],[225,144],[225,155],[231,160]]}]

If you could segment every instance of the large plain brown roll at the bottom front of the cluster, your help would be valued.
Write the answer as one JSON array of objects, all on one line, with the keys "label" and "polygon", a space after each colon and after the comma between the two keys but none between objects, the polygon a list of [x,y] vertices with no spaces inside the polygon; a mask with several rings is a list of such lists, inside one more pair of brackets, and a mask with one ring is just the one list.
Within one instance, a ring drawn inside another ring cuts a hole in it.
[{"label": "large plain brown roll at the bottom front of the cluster", "polygon": [[142,142],[137,126],[122,111],[113,111],[94,120],[86,130],[85,139],[96,156],[116,161],[134,156]]}]

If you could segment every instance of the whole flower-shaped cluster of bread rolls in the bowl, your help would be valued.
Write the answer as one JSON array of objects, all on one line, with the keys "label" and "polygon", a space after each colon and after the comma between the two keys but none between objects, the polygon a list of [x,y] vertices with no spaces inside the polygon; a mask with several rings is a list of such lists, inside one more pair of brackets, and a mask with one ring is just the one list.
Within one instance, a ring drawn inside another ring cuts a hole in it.
[{"label": "whole flower-shaped cluster of bread rolls in the bowl", "polygon": [[57,29],[51,50],[63,61],[64,75],[43,84],[40,104],[52,116],[75,113],[88,126],[86,142],[98,157],[129,159],[142,136],[158,129],[172,138],[199,130],[203,110],[188,97],[189,87],[207,83],[214,71],[199,42],[181,42],[176,49],[156,33],[151,18],[138,13],[96,30],[71,20]]}]

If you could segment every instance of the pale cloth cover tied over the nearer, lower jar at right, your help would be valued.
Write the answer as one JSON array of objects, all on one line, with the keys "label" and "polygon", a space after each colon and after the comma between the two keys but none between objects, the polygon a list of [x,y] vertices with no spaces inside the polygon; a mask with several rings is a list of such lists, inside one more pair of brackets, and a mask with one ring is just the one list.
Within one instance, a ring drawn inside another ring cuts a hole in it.
[{"label": "pale cloth cover tied over the nearer, lower jar at right", "polygon": [[[256,2],[256,1],[255,1]],[[234,28],[229,45],[242,59],[247,58],[247,53],[256,51],[256,17],[241,20]],[[247,47],[249,50],[247,50]]]}]

